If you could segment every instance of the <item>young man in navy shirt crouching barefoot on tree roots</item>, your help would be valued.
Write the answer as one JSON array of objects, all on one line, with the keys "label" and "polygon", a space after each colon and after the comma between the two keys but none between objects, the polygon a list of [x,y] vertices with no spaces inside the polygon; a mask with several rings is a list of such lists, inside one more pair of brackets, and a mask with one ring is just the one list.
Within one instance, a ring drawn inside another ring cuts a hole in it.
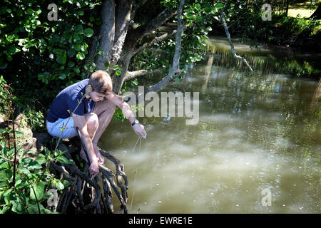
[{"label": "young man in navy shirt crouching barefoot on tree roots", "polygon": [[[77,135],[76,127],[79,128],[91,162],[91,178],[97,175],[98,164],[104,162],[97,142],[111,122],[116,106],[121,108],[134,132],[139,136],[145,136],[144,126],[136,120],[129,105],[113,93],[111,76],[106,71],[96,71],[91,78],[68,86],[58,93],[51,104],[47,116],[48,133],[56,137],[60,137],[62,133],[61,138],[72,138]],[[69,118],[69,111],[73,113],[72,118]],[[65,130],[62,131],[63,128]],[[83,148],[80,156],[87,160]]]}]

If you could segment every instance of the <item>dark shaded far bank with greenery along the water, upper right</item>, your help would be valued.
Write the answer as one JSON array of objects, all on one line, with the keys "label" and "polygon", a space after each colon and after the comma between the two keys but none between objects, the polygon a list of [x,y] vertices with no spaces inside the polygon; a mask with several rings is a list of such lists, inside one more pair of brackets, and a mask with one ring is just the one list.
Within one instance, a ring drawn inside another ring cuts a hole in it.
[{"label": "dark shaded far bank with greenery along the water, upper right", "polygon": [[[250,41],[253,46],[267,43],[321,52],[321,20],[282,15],[273,15],[272,21],[258,17],[243,23],[237,20],[232,19],[228,24],[231,36]],[[225,36],[223,26],[218,23],[212,26],[209,36]]]}]

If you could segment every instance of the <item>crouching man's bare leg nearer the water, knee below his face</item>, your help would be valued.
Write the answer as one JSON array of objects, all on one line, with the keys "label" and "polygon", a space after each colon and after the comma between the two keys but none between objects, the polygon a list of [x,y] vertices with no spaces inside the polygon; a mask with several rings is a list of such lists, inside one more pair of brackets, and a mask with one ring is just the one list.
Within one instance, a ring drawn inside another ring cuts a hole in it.
[{"label": "crouching man's bare leg nearer the water, knee below his face", "polygon": [[116,105],[111,103],[109,100],[104,100],[96,103],[96,106],[93,109],[93,113],[96,113],[96,115],[98,115],[99,121],[98,129],[96,130],[96,133],[93,136],[93,150],[95,150],[98,162],[104,162],[104,158],[99,152],[97,143],[98,140],[101,138],[101,135],[103,135],[103,132],[106,130],[109,123],[111,123],[113,113],[115,113],[115,108]]}]

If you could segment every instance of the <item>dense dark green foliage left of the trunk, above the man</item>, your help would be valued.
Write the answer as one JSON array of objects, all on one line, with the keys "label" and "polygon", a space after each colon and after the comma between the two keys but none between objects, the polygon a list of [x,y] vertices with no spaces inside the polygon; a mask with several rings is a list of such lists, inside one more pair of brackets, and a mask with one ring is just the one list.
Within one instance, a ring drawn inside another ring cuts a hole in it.
[{"label": "dense dark green foliage left of the trunk, above the man", "polygon": [[53,98],[93,71],[85,64],[93,28],[101,24],[96,1],[56,1],[58,21],[49,21],[51,1],[5,1],[0,7],[0,68],[16,95]]}]

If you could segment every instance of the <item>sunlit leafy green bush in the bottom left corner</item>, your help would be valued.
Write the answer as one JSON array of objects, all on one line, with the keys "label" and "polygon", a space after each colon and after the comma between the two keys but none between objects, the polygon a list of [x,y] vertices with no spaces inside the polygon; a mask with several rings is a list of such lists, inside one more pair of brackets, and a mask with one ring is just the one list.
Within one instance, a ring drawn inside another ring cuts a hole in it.
[{"label": "sunlit leafy green bush in the bottom left corner", "polygon": [[[26,151],[20,151],[16,175],[14,179],[14,165],[10,160],[14,157],[14,148],[9,150],[6,142],[1,142],[0,150],[0,214],[14,213],[52,213],[46,209],[46,202],[50,195],[48,190],[53,187],[63,190],[70,185],[66,180],[58,180],[49,172],[50,162],[72,163],[57,150],[44,154],[27,152],[36,159],[26,157]],[[19,151],[20,148],[16,148]]]}]

